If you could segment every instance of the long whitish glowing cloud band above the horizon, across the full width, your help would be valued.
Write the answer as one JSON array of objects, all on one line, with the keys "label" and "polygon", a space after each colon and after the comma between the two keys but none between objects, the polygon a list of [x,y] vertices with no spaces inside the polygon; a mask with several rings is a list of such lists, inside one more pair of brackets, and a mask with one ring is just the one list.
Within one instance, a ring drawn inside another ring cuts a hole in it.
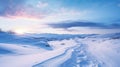
[{"label": "long whitish glowing cloud band above the horizon, across the full width", "polygon": [[[16,30],[16,29],[25,29],[27,33],[56,33],[56,34],[97,34],[97,33],[115,33],[120,32],[119,29],[101,29],[101,28],[91,28],[89,26],[81,27],[81,26],[71,26],[68,28],[53,28],[49,24],[45,25],[44,23],[41,23],[39,20],[27,20],[27,19],[11,19],[11,18],[5,18],[0,17],[0,28],[8,31],[8,30]],[[68,21],[69,23],[72,21]],[[60,22],[61,23],[61,22]],[[60,23],[54,23],[54,24],[60,24]],[[65,22],[63,22],[65,23]],[[47,24],[47,23],[46,23]],[[116,26],[117,24],[113,24],[113,26]]]}]

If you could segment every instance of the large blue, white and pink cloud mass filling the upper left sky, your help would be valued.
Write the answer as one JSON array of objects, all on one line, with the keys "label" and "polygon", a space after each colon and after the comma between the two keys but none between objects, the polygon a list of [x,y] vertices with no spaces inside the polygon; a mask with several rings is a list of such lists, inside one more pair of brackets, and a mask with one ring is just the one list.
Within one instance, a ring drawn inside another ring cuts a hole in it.
[{"label": "large blue, white and pink cloud mass filling the upper left sky", "polygon": [[63,20],[85,19],[89,11],[79,11],[68,7],[52,6],[58,2],[51,3],[43,0],[0,0],[0,16],[8,18],[35,18],[45,22]]}]

